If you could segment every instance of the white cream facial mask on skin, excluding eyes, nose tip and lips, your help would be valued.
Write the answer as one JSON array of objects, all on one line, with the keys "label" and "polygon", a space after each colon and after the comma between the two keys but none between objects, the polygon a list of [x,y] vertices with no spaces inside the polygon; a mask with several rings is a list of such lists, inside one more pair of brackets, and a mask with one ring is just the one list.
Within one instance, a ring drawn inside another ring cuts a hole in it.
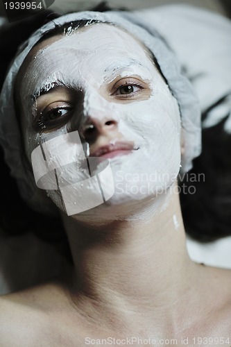
[{"label": "white cream facial mask on skin, excluding eyes, nose tip and lips", "polygon": [[[105,88],[118,76],[137,76],[148,85],[150,95],[126,101],[109,97]],[[53,83],[62,83],[76,92],[82,90],[83,112],[80,115],[74,112],[71,121],[58,130],[37,134],[31,126],[33,115],[28,105],[31,96],[39,94],[42,88],[48,91]],[[73,124],[82,124],[87,117],[116,122],[117,131],[110,138],[111,142],[123,139],[134,143],[131,153],[110,159],[114,195],[99,207],[83,212],[87,219],[135,219],[141,211],[146,218],[147,201],[148,205],[156,206],[158,198],[176,180],[180,169],[178,103],[141,44],[125,31],[94,24],[38,51],[22,81],[21,98],[28,158],[38,144],[78,130]],[[99,164],[96,172],[101,169],[102,164]],[[89,178],[85,168],[70,169],[69,174],[78,176],[78,181]],[[73,201],[75,194],[70,196]],[[60,192],[50,191],[49,195],[62,209]]]}]

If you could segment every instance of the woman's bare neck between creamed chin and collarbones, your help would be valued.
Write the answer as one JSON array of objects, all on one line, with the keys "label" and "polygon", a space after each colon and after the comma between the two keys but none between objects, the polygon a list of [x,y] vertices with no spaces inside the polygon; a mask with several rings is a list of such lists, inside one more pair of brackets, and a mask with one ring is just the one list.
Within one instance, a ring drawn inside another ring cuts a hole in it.
[{"label": "woman's bare neck between creamed chin and collarbones", "polygon": [[78,303],[84,302],[79,296],[92,301],[97,312],[110,320],[117,317],[117,322],[128,321],[131,312],[148,317],[154,311],[159,320],[161,316],[166,320],[166,309],[178,309],[189,290],[194,263],[187,254],[176,187],[169,189],[162,204],[166,208],[145,223],[113,221],[98,227],[63,217]]}]

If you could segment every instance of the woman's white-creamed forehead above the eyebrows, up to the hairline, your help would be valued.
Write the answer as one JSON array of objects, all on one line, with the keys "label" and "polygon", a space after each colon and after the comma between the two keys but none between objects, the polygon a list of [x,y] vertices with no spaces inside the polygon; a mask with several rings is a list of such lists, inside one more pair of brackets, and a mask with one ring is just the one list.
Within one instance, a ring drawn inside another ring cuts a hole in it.
[{"label": "woman's white-creamed forehead above the eyebrows, up to the hairline", "polygon": [[[71,62],[92,62],[97,57],[105,69],[116,67],[118,59],[140,65],[153,66],[153,56],[146,46],[136,37],[112,24],[93,24],[74,31],[69,36],[55,35],[37,44],[28,54],[22,69],[35,68],[38,59],[42,65],[53,62],[60,65],[66,60]],[[35,60],[36,58],[36,60]],[[95,61],[96,62],[96,61]],[[99,65],[99,60],[97,61]],[[113,66],[114,65],[114,66]],[[58,66],[57,66],[58,67]],[[58,67],[60,68],[60,66]]]}]

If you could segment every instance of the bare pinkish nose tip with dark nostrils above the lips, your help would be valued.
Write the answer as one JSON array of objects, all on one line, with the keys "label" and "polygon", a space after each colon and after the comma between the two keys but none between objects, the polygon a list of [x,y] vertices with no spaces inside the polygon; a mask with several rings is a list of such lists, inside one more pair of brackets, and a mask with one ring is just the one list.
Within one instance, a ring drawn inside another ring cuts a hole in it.
[{"label": "bare pinkish nose tip with dark nostrils above the lips", "polygon": [[93,144],[99,137],[106,137],[109,140],[117,133],[118,123],[112,117],[102,117],[101,119],[89,116],[83,124],[80,133],[86,142]]}]

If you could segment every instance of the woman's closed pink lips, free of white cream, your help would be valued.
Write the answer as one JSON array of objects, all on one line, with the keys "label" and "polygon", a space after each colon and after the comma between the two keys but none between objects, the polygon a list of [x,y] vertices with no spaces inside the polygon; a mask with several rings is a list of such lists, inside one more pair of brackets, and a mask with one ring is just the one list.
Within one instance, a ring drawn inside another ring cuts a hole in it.
[{"label": "woman's closed pink lips, free of white cream", "polygon": [[90,157],[113,158],[116,155],[125,155],[130,153],[134,148],[132,142],[115,142],[99,147],[96,151],[90,153]]}]

